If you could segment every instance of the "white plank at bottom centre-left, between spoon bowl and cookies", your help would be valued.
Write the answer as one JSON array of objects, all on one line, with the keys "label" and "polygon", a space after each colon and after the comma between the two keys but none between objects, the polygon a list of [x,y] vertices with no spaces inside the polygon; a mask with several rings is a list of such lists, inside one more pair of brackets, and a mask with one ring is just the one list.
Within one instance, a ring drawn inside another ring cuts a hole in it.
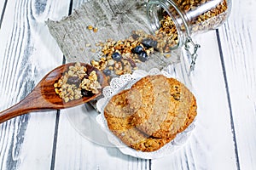
[{"label": "white plank at bottom centre-left, between spoon bowl and cookies", "polygon": [[84,113],[84,105],[61,111],[55,169],[149,169],[148,160],[125,156],[116,148],[83,138],[69,122],[67,111]]}]

